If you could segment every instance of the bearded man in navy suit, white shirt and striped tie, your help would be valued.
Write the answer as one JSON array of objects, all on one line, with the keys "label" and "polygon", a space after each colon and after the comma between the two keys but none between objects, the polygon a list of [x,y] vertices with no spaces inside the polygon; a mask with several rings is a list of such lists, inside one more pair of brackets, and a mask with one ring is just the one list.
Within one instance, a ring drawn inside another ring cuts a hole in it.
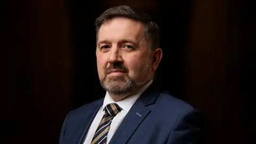
[{"label": "bearded man in navy suit, white shirt and striped tie", "polygon": [[158,26],[129,6],[95,21],[97,69],[105,98],[70,111],[60,144],[197,143],[201,115],[153,82],[162,59]]}]

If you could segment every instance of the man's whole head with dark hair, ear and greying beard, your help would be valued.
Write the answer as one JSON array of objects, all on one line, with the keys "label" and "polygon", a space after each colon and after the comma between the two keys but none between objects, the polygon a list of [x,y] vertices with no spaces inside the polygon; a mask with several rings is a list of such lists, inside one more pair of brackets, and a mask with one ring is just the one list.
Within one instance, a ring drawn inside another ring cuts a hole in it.
[{"label": "man's whole head with dark hair, ear and greying beard", "polygon": [[129,6],[111,7],[95,27],[98,74],[106,91],[131,93],[154,77],[162,50],[159,28],[147,14]]}]

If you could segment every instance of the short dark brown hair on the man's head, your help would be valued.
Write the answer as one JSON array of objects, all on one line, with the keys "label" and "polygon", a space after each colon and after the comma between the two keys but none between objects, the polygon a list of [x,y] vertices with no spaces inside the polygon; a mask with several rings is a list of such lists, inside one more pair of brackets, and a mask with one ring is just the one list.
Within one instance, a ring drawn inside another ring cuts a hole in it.
[{"label": "short dark brown hair on the man's head", "polygon": [[126,5],[110,7],[95,20],[95,28],[97,30],[96,41],[98,41],[99,29],[103,25],[103,23],[115,17],[125,17],[142,22],[144,25],[144,34],[148,44],[150,45],[150,49],[155,50],[157,49],[157,47],[159,47],[158,25],[148,14],[135,10],[132,7]]}]

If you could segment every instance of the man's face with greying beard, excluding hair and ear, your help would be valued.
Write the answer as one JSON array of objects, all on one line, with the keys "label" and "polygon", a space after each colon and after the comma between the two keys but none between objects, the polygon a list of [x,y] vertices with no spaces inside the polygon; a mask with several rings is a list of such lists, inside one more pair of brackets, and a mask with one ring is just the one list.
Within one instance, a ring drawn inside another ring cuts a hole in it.
[{"label": "man's face with greying beard, excluding hair and ear", "polygon": [[96,56],[101,85],[110,93],[129,93],[153,78],[141,22],[121,17],[106,21],[99,29]]}]

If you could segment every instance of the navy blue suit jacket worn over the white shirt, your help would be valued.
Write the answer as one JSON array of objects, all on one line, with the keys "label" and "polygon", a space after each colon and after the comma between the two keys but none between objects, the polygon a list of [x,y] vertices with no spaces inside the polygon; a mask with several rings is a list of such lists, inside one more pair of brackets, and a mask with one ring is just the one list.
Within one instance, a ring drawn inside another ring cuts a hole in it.
[{"label": "navy blue suit jacket worn over the white shirt", "polygon": [[[83,144],[103,99],[69,112],[62,125],[60,144]],[[140,96],[119,125],[109,144],[199,143],[203,117],[186,102],[153,86]]]}]

